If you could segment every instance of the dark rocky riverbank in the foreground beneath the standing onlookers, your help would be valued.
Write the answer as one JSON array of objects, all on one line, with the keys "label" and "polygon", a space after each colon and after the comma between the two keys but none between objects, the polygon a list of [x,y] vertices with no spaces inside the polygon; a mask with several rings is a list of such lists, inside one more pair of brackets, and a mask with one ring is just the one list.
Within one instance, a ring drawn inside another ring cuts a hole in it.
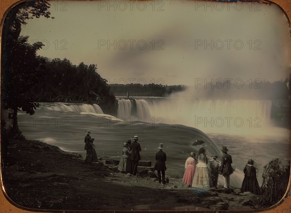
[{"label": "dark rocky riverbank in the foreground beneath the standing onlookers", "polygon": [[10,140],[2,168],[7,196],[18,205],[51,210],[252,210],[260,197],[222,186],[187,188],[181,179],[159,184],[154,173],[120,173],[102,162],[40,141]]}]

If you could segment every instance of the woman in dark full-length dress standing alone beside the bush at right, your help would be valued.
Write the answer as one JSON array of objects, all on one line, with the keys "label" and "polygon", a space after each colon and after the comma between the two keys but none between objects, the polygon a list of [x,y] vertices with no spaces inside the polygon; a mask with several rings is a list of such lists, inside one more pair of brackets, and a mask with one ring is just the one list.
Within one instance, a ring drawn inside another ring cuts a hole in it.
[{"label": "woman in dark full-length dress standing alone beside the bush at right", "polygon": [[254,167],[254,161],[248,160],[247,165],[243,169],[244,179],[242,182],[242,192],[252,192],[259,195],[259,183],[257,180],[257,170]]}]

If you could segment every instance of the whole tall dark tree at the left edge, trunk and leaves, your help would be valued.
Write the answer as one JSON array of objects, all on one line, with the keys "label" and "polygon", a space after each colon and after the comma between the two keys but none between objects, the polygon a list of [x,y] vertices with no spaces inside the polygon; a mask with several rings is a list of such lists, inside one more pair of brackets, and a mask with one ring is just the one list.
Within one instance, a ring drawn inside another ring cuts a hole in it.
[{"label": "whole tall dark tree at the left edge, trunk and leaves", "polygon": [[[1,105],[14,110],[13,129],[19,132],[17,110],[34,113],[38,103],[28,96],[32,85],[38,83],[42,61],[38,60],[36,51],[41,43],[30,45],[28,37],[20,36],[21,26],[27,20],[44,16],[50,17],[50,4],[47,0],[30,0],[13,7],[7,14],[2,29],[1,42]],[[52,17],[53,18],[53,17]]]}]

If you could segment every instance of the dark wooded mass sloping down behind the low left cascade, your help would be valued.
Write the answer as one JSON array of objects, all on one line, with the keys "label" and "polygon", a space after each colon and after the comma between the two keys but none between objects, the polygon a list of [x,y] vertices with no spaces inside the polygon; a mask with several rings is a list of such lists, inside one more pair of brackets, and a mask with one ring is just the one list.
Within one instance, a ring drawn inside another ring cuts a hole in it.
[{"label": "dark wooded mass sloping down behind the low left cascade", "polygon": [[97,73],[95,64],[78,66],[64,59],[48,59],[40,84],[32,87],[32,96],[39,102],[71,101],[99,104],[104,111],[113,112],[116,102],[107,80]]}]

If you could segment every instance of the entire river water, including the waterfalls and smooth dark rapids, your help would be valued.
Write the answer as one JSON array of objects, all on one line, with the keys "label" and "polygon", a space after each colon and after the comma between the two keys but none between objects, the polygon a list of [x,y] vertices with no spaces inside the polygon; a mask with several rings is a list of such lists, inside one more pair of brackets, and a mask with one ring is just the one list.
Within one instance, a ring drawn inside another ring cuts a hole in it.
[{"label": "entire river water, including the waterfalls and smooth dark rapids", "polygon": [[[85,131],[92,132],[98,157],[121,155],[123,143],[140,137],[142,160],[154,163],[159,143],[167,154],[166,175],[182,178],[189,152],[205,147],[207,155],[232,155],[231,185],[241,187],[243,167],[252,158],[262,182],[263,166],[290,159],[289,130],[272,125],[271,101],[184,100],[180,98],[118,97],[118,115],[104,114],[97,105],[40,103],[35,114],[19,112],[19,128],[27,139],[40,140],[85,157]],[[196,139],[204,144],[192,146]],[[220,177],[219,182],[222,183]]]}]

